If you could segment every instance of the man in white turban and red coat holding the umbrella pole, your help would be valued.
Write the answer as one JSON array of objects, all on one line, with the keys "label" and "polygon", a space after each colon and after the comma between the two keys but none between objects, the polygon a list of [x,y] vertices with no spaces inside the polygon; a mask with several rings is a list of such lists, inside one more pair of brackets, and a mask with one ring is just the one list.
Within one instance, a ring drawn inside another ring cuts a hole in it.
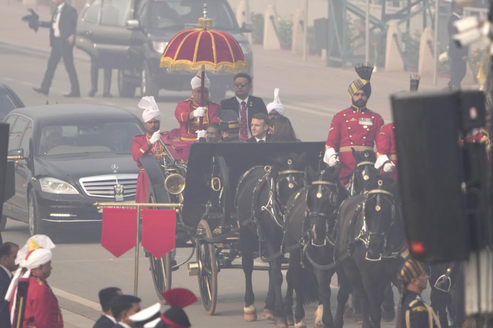
[{"label": "man in white turban and red coat holding the umbrella pole", "polygon": [[[199,75],[192,78],[192,97],[178,103],[175,109],[175,117],[180,124],[181,140],[183,141],[196,141],[199,138],[205,138],[207,125],[218,121],[215,114],[221,108],[219,104],[208,99],[211,81],[207,75],[205,75],[204,79],[203,105],[202,107],[200,106],[201,82],[202,78]],[[203,126],[202,130],[199,131],[200,117],[203,117]]]}]

